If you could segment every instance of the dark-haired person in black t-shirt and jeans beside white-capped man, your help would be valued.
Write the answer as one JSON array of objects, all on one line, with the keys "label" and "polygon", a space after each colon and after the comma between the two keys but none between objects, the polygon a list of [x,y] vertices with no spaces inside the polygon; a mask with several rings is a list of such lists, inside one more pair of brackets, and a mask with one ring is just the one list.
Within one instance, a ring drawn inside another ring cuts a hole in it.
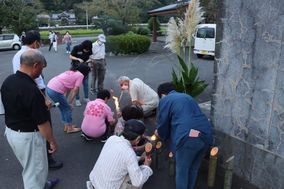
[{"label": "dark-haired person in black t-shirt and jeans beside white-capped man", "polygon": [[[93,48],[92,42],[90,40],[85,40],[82,42],[82,44],[76,45],[75,47],[73,47],[73,50],[70,54],[70,59],[72,60],[72,62],[74,61],[79,61],[80,63],[91,62],[92,55],[93,55],[92,48]],[[83,90],[84,90],[84,102],[88,103],[90,102],[89,94],[88,94],[89,75],[87,76],[87,78],[83,79]],[[76,98],[76,105],[81,106],[79,90],[75,98]]]}]

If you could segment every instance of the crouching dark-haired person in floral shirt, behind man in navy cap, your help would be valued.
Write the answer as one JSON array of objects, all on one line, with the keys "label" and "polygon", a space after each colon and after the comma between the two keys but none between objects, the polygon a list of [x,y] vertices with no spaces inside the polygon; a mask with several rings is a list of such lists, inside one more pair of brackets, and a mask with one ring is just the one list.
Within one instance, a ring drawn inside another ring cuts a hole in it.
[{"label": "crouching dark-haired person in floral shirt, behind man in navy cap", "polygon": [[[117,121],[117,124],[116,124],[115,129],[114,129],[114,133],[113,133],[113,135],[116,135],[116,136],[122,135],[122,131],[124,130],[124,125],[128,120],[130,120],[130,119],[139,120],[139,119],[143,118],[143,116],[144,116],[143,110],[141,110],[138,106],[132,105],[132,104],[127,105],[124,108],[122,108],[121,115],[122,115],[122,117],[120,117],[119,120]],[[132,149],[135,152],[140,151],[140,150],[144,150],[146,144],[145,145],[143,145],[143,144],[144,144],[145,140],[150,141],[150,136],[145,136],[143,134],[139,143],[136,144],[135,146],[132,146]]]}]

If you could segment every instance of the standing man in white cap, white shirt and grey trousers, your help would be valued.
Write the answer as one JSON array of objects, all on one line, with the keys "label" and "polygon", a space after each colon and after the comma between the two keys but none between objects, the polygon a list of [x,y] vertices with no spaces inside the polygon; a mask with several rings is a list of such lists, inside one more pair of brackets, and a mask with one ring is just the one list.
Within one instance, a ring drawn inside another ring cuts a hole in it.
[{"label": "standing man in white cap, white shirt and grey trousers", "polygon": [[96,81],[98,78],[98,91],[103,89],[103,80],[105,79],[105,36],[103,34],[98,36],[96,42],[93,43],[93,62],[90,67],[91,71],[91,92],[97,94]]}]

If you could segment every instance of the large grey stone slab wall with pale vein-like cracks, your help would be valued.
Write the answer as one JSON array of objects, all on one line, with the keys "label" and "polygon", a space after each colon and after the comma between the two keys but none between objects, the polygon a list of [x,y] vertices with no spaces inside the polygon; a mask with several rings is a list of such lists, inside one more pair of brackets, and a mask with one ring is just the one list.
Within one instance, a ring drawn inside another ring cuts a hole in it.
[{"label": "large grey stone slab wall with pale vein-like cracks", "polygon": [[284,188],[284,1],[218,0],[210,120],[219,163]]}]

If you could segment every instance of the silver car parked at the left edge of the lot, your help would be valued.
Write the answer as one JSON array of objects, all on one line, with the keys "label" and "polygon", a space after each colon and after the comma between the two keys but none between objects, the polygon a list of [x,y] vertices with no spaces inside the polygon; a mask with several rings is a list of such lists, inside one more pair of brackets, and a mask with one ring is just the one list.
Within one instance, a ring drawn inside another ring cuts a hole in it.
[{"label": "silver car parked at the left edge of the lot", "polygon": [[12,34],[0,35],[0,49],[20,50],[21,47],[22,43],[19,36]]}]

